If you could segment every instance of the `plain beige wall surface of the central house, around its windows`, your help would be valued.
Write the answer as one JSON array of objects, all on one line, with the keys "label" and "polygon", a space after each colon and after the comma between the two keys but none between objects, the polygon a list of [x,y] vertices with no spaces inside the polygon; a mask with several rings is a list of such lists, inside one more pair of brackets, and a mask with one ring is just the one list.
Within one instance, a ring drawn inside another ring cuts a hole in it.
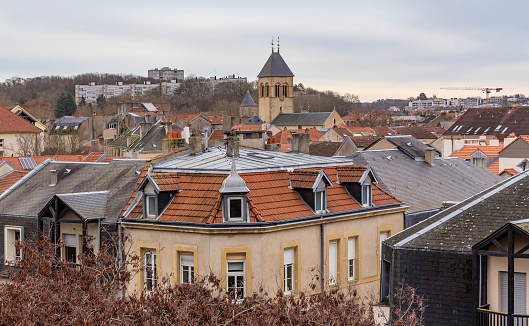
[{"label": "plain beige wall surface of the central house, around its windows", "polygon": [[[356,285],[361,295],[377,295],[379,284],[379,235],[380,230],[389,230],[391,234],[402,230],[403,209],[394,213],[366,213],[363,217],[325,221],[325,248],[330,240],[339,240],[339,284],[342,287]],[[247,280],[249,288],[257,290],[263,286],[269,293],[275,293],[282,286],[283,250],[297,246],[299,264],[297,268],[297,291],[308,291],[309,284],[316,273],[321,271],[320,220],[299,224],[290,228],[276,227],[273,230],[253,230],[243,233],[235,230],[193,230],[167,228],[161,225],[154,229],[141,226],[125,227],[132,237],[136,251],[144,248],[159,249],[160,276],[174,274],[177,269],[175,248],[195,248],[197,252],[196,271],[206,275],[210,271],[222,276],[225,261],[223,252],[243,251],[250,253],[247,261],[251,263],[251,276]],[[357,277],[349,282],[347,271],[347,238],[358,236],[357,243]],[[239,249],[236,249],[239,248]],[[327,252],[328,249],[326,249]],[[328,257],[326,265],[328,265]],[[325,267],[328,284],[328,268]],[[341,276],[340,276],[341,275]],[[141,277],[141,276],[140,276]],[[141,279],[141,278],[140,278]],[[176,278],[175,278],[176,281]],[[130,290],[138,288],[137,279],[132,281]],[[223,284],[225,280],[223,280]],[[317,284],[320,290],[320,283]],[[248,293],[249,295],[249,293]]]}]

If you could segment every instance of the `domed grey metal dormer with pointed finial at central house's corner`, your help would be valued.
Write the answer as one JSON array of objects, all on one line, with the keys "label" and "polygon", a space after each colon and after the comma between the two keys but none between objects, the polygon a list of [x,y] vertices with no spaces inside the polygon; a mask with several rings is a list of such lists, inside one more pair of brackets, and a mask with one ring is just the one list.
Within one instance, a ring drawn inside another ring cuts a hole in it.
[{"label": "domed grey metal dormer with pointed finial at central house's corner", "polygon": [[248,199],[250,190],[237,173],[235,158],[232,157],[231,172],[222,181],[219,192],[222,195],[222,218],[224,222],[248,222]]}]

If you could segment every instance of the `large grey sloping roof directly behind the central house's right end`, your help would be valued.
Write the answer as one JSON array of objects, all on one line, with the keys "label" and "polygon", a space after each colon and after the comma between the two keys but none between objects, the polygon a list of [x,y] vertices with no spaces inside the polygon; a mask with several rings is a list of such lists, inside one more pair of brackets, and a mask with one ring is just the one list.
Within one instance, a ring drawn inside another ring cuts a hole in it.
[{"label": "large grey sloping roof directly behind the central house's right end", "polygon": [[410,206],[408,213],[439,209],[444,201],[460,202],[503,180],[459,158],[435,158],[431,166],[399,149],[355,152],[356,164],[368,165],[379,185]]}]

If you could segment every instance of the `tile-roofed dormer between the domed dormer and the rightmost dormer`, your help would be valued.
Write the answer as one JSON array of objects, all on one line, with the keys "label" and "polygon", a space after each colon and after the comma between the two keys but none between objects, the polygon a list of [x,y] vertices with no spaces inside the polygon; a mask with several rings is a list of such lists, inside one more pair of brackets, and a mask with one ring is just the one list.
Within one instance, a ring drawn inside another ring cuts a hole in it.
[{"label": "tile-roofed dormer between the domed dormer and the rightmost dormer", "polygon": [[332,187],[332,181],[323,169],[290,172],[290,188],[315,214],[327,213],[327,187]]}]

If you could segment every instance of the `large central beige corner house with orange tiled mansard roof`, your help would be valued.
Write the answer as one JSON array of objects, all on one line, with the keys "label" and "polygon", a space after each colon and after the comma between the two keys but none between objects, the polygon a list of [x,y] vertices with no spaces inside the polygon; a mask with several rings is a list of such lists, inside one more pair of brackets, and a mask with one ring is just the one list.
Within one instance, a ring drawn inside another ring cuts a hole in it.
[{"label": "large central beige corner house with orange tiled mansard roof", "polygon": [[379,245],[403,227],[406,207],[370,169],[344,158],[209,148],[152,165],[121,225],[151,291],[164,275],[192,283],[213,272],[236,299],[356,285],[378,293]]}]

